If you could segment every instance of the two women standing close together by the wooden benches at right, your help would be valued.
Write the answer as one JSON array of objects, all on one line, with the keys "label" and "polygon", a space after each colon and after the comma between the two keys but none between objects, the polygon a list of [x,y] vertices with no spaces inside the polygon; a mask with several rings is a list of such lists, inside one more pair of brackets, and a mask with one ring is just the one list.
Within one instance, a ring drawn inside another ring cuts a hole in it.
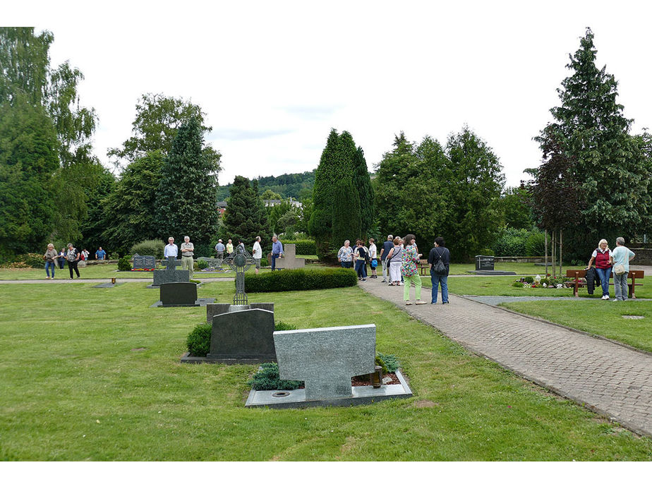
[{"label": "two women standing close together by the wooden benches at right", "polygon": [[586,270],[591,270],[593,261],[596,262],[596,274],[602,286],[603,301],[609,300],[609,279],[613,272],[613,289],[616,298],[613,301],[627,301],[627,274],[629,274],[629,261],[636,256],[632,250],[624,246],[624,238],[616,238],[616,247],[609,249],[606,239],[600,239],[598,248],[591,253]]}]

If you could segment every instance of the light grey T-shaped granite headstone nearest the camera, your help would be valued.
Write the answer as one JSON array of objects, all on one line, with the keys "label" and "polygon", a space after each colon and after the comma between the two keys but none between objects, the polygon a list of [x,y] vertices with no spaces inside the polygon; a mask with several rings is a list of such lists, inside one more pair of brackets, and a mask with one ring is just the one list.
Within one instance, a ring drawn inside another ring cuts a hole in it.
[{"label": "light grey T-shaped granite headstone nearest the camera", "polygon": [[351,397],[351,377],[375,368],[375,325],[274,332],[282,380],[303,380],[306,399]]}]

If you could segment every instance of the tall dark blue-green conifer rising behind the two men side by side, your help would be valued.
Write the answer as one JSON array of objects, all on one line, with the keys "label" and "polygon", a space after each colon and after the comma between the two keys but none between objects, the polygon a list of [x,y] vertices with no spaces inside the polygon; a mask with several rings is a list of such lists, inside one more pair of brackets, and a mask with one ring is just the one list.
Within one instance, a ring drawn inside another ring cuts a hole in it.
[{"label": "tall dark blue-green conifer rising behind the two men side by side", "polygon": [[200,124],[195,119],[179,128],[162,168],[157,193],[159,237],[191,237],[207,245],[217,231],[217,171],[207,158]]}]

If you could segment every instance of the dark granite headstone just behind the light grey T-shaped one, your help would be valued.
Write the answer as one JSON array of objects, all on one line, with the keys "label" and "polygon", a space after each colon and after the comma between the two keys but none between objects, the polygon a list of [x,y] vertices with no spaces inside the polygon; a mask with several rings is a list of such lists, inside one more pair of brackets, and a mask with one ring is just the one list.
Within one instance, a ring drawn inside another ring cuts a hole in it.
[{"label": "dark granite headstone just behind the light grey T-shaped one", "polygon": [[276,361],[274,313],[246,309],[213,317],[207,358]]}]

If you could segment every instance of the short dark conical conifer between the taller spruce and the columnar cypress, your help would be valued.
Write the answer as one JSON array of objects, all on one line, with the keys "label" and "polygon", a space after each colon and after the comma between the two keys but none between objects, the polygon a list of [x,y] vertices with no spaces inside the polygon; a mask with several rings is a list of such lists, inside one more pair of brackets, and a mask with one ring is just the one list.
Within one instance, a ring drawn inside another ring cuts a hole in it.
[{"label": "short dark conical conifer between the taller spruce and the columnar cypress", "polygon": [[272,231],[265,204],[258,195],[258,181],[254,181],[252,186],[244,176],[236,176],[229,191],[231,197],[227,200],[227,210],[224,212],[224,232],[227,237],[241,238],[247,249],[253,246],[256,236],[260,236],[263,243],[269,243]]}]

